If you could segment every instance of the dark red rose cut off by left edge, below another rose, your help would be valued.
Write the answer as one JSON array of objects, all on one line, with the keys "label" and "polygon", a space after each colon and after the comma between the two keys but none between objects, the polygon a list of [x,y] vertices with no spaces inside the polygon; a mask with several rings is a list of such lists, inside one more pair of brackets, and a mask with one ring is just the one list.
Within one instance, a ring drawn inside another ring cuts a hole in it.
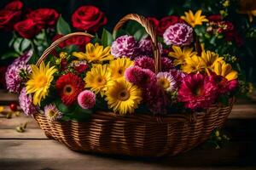
[{"label": "dark red rose cut off by left edge, below another rose", "polygon": [[20,20],[21,11],[0,10],[0,29],[12,31],[15,23]]}]

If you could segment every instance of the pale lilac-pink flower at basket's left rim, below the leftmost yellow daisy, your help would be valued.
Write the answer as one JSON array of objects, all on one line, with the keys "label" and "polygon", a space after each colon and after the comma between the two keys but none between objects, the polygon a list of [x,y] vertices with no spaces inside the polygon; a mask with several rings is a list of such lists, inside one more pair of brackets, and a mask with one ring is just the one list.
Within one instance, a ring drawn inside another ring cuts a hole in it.
[{"label": "pale lilac-pink flower at basket's left rim, below the leftmost yellow daisy", "polygon": [[20,108],[26,115],[32,115],[36,111],[36,106],[32,104],[32,95],[26,94],[26,88],[22,88],[19,96]]}]

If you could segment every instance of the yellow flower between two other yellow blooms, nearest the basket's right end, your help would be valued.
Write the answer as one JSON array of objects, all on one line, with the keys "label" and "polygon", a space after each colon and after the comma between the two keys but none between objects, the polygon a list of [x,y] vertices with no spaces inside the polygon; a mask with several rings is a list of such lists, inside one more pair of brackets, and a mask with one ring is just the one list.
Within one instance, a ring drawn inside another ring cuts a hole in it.
[{"label": "yellow flower between two other yellow blooms, nearest the basket's right end", "polygon": [[206,69],[212,67],[216,62],[222,61],[224,58],[219,57],[218,54],[213,53],[212,51],[202,51],[201,59],[203,61],[203,65]]}]

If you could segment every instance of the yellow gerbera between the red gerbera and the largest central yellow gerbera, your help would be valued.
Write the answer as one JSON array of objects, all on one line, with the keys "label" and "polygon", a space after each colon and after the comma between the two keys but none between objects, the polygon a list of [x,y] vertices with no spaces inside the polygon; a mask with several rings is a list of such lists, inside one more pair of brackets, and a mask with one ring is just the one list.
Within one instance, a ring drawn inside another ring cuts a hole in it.
[{"label": "yellow gerbera between the red gerbera and the largest central yellow gerbera", "polygon": [[113,82],[111,80],[111,72],[107,65],[92,65],[90,71],[84,77],[85,88],[90,88],[96,94],[100,93],[102,96],[107,90],[107,86]]}]

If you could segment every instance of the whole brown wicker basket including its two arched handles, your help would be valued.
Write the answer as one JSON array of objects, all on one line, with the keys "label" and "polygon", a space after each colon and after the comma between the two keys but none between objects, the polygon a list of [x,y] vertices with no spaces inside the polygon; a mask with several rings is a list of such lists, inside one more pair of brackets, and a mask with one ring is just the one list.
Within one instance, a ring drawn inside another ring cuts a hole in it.
[{"label": "whole brown wicker basket including its two arched handles", "polygon": [[[137,14],[128,14],[115,26],[117,31],[127,20],[139,22],[154,43],[155,70],[160,71],[160,54],[156,34],[148,20]],[[60,43],[73,36],[90,36],[76,32],[61,37],[47,48],[37,65]],[[91,36],[90,36],[91,37]],[[233,106],[211,105],[205,112],[172,114],[167,116],[129,115],[98,111],[90,122],[50,122],[43,114],[34,114],[35,120],[49,139],[66,144],[71,150],[119,154],[129,156],[174,156],[190,150],[205,141],[214,128],[221,127]]]}]

